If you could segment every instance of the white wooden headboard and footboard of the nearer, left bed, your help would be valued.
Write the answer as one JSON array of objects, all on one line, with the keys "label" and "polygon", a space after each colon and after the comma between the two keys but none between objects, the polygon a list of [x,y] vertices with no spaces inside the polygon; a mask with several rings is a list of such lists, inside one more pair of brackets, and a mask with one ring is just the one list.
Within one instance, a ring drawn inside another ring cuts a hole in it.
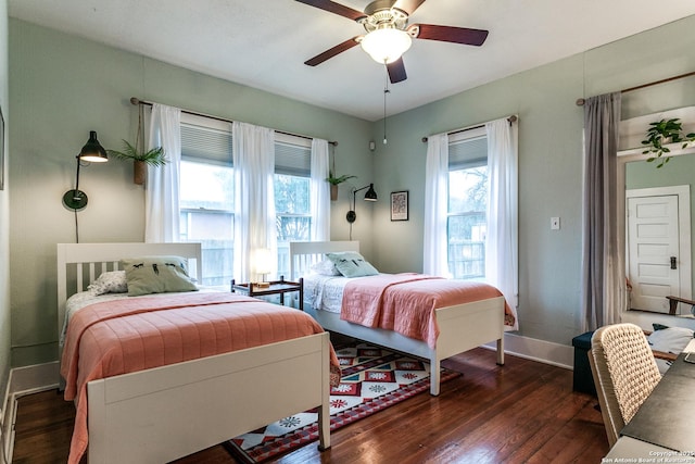
[{"label": "white wooden headboard and footboard of the nearer, left bed", "polygon": [[[70,296],[140,255],[187,258],[200,281],[199,243],[58,244],[59,330]],[[317,406],[329,448],[330,350],[321,333],[89,381],[88,461],[168,462]]]}]

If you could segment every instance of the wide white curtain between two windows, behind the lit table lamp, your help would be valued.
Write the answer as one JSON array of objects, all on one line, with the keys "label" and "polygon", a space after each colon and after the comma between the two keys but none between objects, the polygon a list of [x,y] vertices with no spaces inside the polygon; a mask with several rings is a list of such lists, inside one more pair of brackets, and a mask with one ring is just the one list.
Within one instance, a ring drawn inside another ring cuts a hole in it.
[{"label": "wide white curtain between two windows, behind the lit table lamp", "polygon": [[270,250],[277,269],[275,217],[275,131],[247,123],[232,124],[235,166],[235,269],[237,281],[257,281],[254,255]]}]

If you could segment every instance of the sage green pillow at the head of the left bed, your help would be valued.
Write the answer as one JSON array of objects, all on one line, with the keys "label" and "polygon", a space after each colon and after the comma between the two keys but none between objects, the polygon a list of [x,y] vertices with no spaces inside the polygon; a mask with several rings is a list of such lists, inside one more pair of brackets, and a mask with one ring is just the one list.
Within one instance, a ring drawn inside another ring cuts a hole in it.
[{"label": "sage green pillow at the head of the left bed", "polygon": [[188,276],[188,260],[181,256],[140,256],[121,260],[126,272],[128,296],[194,291]]}]

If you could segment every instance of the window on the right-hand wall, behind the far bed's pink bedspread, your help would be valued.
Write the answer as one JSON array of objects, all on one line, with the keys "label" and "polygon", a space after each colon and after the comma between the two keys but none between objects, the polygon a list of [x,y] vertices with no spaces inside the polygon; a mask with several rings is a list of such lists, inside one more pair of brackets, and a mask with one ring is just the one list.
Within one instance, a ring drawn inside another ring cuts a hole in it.
[{"label": "window on the right-hand wall, behind the far bed's pink bedspread", "polygon": [[447,260],[454,278],[484,279],[488,231],[488,138],[482,129],[448,142]]}]

